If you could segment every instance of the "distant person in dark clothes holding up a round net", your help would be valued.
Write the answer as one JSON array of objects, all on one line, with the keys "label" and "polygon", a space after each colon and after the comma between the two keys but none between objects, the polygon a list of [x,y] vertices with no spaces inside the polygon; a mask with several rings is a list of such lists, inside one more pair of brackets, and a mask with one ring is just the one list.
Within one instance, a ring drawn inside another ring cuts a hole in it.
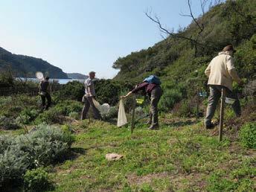
[{"label": "distant person in dark clothes holding up a round net", "polygon": [[[39,95],[42,99],[42,109],[47,110],[51,106],[51,95],[49,93],[49,77],[45,77],[45,79],[40,82]],[[47,100],[46,105],[45,100]]]}]

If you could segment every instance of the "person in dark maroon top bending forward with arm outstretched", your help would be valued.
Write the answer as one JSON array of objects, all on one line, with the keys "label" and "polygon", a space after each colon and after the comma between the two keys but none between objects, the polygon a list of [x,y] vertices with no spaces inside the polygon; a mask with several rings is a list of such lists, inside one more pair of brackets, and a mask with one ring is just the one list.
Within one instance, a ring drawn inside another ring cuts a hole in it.
[{"label": "person in dark maroon top bending forward with arm outstretched", "polygon": [[127,93],[125,96],[121,96],[121,98],[129,97],[129,95],[135,94],[139,91],[144,91],[150,96],[150,124],[149,129],[159,129],[159,116],[158,116],[158,103],[162,95],[161,86],[156,85],[154,83],[143,82],[138,84],[131,92]]}]

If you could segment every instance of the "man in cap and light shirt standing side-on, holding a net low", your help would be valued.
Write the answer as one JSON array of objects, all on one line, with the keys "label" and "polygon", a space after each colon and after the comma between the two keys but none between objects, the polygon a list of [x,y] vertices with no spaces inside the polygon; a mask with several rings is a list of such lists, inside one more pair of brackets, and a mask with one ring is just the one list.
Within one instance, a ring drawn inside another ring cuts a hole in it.
[{"label": "man in cap and light shirt standing side-on, holding a net low", "polygon": [[87,113],[89,112],[90,106],[92,106],[92,111],[94,114],[95,119],[100,120],[100,112],[95,107],[95,104],[93,103],[93,100],[96,96],[95,93],[95,84],[93,80],[95,79],[95,71],[89,72],[89,78],[86,79],[84,86],[85,86],[85,95],[83,96],[83,110],[81,115],[81,120],[85,119],[87,117]]}]

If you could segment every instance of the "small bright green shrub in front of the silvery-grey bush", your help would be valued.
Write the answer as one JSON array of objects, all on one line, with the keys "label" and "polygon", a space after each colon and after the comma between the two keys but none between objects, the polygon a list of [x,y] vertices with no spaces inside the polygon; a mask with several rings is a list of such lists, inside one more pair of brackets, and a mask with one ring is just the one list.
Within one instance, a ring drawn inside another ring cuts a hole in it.
[{"label": "small bright green shrub in front of the silvery-grey bush", "polygon": [[44,191],[50,186],[48,173],[42,167],[27,170],[24,175],[25,191]]}]

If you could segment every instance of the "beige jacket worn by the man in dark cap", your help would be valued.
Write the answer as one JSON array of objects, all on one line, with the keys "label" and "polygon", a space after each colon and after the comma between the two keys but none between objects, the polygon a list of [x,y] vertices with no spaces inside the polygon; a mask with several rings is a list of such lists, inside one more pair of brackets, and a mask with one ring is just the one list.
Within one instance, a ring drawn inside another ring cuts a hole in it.
[{"label": "beige jacket worn by the man in dark cap", "polygon": [[234,59],[225,52],[220,52],[217,57],[205,69],[205,74],[209,77],[208,85],[225,86],[232,91],[233,80],[240,83],[241,80],[234,70]]}]

